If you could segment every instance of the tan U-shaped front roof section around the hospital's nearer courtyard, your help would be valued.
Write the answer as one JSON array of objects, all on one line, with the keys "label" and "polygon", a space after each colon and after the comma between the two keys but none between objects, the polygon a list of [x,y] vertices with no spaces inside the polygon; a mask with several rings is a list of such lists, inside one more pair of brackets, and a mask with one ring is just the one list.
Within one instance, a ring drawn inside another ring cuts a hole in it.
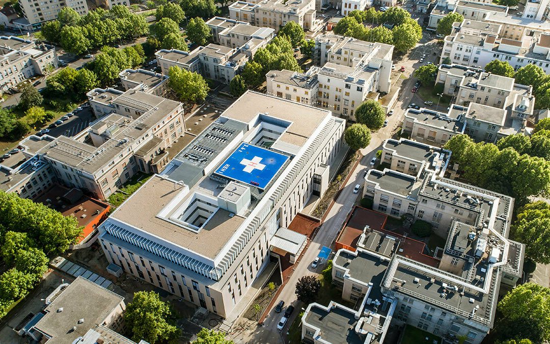
[{"label": "tan U-shaped front roof section around the hospital's nearer courtyard", "polygon": [[[238,215],[229,216],[229,211],[218,209],[201,231],[195,233],[157,217],[180,192],[173,181],[155,175],[119,206],[111,217],[207,258],[215,258],[245,219]],[[183,198],[180,203],[187,198],[188,196]],[[176,206],[177,208],[179,207]],[[136,209],[140,211],[136,212]]]}]

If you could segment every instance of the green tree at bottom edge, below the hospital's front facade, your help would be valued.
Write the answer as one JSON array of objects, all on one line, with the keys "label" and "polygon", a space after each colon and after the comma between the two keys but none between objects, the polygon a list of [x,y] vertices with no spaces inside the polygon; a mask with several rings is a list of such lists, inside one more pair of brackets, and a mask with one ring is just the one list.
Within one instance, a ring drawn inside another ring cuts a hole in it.
[{"label": "green tree at bottom edge, below the hospital's front facade", "polygon": [[140,291],[124,312],[126,325],[132,332],[134,341],[145,340],[151,344],[174,340],[179,336],[172,310],[156,292]]}]

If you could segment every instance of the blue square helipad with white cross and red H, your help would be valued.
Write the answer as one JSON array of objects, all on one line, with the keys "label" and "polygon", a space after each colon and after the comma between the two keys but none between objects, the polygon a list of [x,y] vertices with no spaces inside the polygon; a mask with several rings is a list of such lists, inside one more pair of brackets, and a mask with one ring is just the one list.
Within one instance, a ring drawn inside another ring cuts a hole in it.
[{"label": "blue square helipad with white cross and red H", "polygon": [[265,189],[288,158],[284,154],[241,143],[215,173]]}]

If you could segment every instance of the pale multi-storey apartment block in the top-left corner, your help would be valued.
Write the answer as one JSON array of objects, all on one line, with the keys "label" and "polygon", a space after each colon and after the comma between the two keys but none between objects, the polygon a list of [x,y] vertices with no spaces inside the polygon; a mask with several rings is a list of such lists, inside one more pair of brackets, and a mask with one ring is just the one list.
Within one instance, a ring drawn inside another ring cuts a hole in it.
[{"label": "pale multi-storey apartment block in the top-left corner", "polygon": [[25,19],[29,21],[33,29],[40,28],[45,21],[57,19],[57,15],[63,7],[70,7],[80,15],[88,13],[88,5],[85,0],[51,0],[48,2],[19,0],[19,6]]}]

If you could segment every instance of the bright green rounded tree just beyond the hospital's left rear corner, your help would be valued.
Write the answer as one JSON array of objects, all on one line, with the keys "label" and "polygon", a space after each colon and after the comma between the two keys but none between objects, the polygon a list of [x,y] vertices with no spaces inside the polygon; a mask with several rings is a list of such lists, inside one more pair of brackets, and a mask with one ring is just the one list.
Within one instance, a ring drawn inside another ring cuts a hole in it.
[{"label": "bright green rounded tree just beyond the hospital's left rear corner", "polygon": [[168,85],[179,99],[191,102],[202,101],[208,95],[210,87],[202,75],[190,72],[174,65],[168,69]]}]

